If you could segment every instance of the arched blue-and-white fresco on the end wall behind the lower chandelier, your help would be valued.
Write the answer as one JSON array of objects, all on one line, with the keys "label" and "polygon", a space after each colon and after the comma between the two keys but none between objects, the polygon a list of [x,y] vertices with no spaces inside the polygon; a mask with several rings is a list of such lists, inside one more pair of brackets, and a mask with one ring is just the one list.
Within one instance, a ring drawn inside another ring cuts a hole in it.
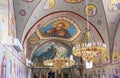
[{"label": "arched blue-and-white fresco on the end wall behind the lower chandelier", "polygon": [[[46,47],[46,48],[44,48]],[[69,57],[71,52],[68,47],[59,42],[49,41],[41,45],[33,54],[33,62],[42,62],[47,59],[53,59],[56,56],[56,52],[60,52],[62,57]]]}]

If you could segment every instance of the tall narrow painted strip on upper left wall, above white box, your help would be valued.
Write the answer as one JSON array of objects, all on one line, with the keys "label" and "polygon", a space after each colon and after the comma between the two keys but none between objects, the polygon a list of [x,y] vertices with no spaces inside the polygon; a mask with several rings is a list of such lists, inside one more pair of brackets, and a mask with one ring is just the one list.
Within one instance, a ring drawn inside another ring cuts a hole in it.
[{"label": "tall narrow painted strip on upper left wall, above white box", "polygon": [[14,17],[13,0],[9,0],[9,25],[8,25],[8,35],[16,37],[16,26]]}]

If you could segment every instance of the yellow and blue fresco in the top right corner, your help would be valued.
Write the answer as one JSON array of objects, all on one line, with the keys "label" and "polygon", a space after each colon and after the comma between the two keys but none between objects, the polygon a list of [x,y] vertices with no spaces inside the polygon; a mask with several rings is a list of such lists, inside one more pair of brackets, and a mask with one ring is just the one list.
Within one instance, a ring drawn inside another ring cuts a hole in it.
[{"label": "yellow and blue fresco in the top right corner", "polygon": [[108,9],[110,12],[118,11],[120,9],[120,0],[110,0]]}]

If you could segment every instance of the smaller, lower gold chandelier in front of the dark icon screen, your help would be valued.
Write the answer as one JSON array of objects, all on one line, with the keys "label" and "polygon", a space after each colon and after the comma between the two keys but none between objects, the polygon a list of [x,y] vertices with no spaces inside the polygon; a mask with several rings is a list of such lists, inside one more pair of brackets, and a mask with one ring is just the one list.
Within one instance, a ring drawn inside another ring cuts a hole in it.
[{"label": "smaller, lower gold chandelier in front of the dark icon screen", "polygon": [[51,67],[51,70],[53,72],[58,71],[60,73],[63,68],[73,66],[75,64],[75,61],[73,60],[72,55],[70,58],[64,58],[59,52],[57,52],[54,59],[45,60],[43,64],[45,66]]}]

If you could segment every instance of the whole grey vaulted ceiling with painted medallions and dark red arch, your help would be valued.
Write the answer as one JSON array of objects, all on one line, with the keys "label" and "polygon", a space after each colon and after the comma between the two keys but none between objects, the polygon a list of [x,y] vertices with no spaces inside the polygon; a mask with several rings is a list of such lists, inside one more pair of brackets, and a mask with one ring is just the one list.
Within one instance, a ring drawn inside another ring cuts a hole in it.
[{"label": "whole grey vaulted ceiling with painted medallions and dark red arch", "polygon": [[89,25],[95,39],[105,42],[112,56],[120,43],[119,7],[113,0],[14,0],[17,37],[27,47],[30,59],[49,41],[72,47]]}]

